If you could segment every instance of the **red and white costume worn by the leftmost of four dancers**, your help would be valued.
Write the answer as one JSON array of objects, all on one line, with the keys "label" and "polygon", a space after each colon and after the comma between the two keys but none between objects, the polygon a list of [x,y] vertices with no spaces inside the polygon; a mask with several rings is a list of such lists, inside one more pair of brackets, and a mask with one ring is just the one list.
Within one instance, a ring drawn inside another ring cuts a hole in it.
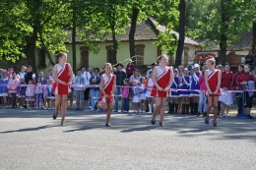
[{"label": "red and white costume worn by the leftmost of four dancers", "polygon": [[[69,63],[65,63],[63,67],[59,63],[57,64],[57,77],[66,84],[69,83]],[[62,85],[55,82],[52,86],[52,91],[54,94],[68,94],[71,89],[70,85]]]}]

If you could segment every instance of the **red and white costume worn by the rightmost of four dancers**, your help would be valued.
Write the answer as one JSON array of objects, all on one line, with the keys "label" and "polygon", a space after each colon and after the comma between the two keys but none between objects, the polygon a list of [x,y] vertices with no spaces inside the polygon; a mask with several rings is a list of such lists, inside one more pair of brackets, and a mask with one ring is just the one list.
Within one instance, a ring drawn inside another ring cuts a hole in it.
[{"label": "red and white costume worn by the rightmost of four dancers", "polygon": [[[208,71],[208,85],[211,89],[212,92],[215,92],[216,89],[217,89],[217,85],[218,85],[218,75],[219,75],[219,70],[215,69],[214,71],[210,71],[210,70],[207,70]],[[217,94],[209,94],[209,91],[208,89],[206,90],[206,93],[205,95],[206,96],[220,96],[222,95],[222,90],[221,88],[219,87],[219,92]]]}]

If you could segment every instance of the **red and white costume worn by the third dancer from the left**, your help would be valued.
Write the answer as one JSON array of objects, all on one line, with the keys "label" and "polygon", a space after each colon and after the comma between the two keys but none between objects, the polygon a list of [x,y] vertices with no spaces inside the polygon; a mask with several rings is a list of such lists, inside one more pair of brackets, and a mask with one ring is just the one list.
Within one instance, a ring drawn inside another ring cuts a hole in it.
[{"label": "red and white costume worn by the third dancer from the left", "polygon": [[[171,68],[166,67],[166,70],[163,71],[160,68],[160,66],[158,66],[155,69],[158,69],[157,83],[158,83],[158,85],[160,85],[160,87],[162,87],[162,89],[164,89],[165,87],[167,87],[169,85]],[[154,97],[167,97],[167,96],[169,96],[169,91],[163,91],[163,90],[160,91],[157,88],[157,86],[154,85],[151,95]]]}]

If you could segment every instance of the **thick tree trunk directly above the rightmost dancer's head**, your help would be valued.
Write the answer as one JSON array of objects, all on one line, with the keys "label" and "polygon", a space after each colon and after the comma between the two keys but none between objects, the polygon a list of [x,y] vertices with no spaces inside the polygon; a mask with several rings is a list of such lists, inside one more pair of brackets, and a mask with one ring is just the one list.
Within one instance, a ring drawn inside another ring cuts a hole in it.
[{"label": "thick tree trunk directly above the rightmost dancer's head", "polygon": [[227,15],[227,7],[225,4],[229,4],[231,0],[221,0],[221,12],[222,12],[222,23],[221,23],[221,37],[220,37],[220,63],[226,63],[226,47],[227,47],[227,36],[226,31],[228,29],[229,17]]}]

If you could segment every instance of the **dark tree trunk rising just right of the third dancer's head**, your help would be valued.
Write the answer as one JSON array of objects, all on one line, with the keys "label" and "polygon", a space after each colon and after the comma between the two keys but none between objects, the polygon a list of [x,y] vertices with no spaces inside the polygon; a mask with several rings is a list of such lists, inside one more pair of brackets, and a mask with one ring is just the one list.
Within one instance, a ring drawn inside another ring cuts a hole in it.
[{"label": "dark tree trunk rising just right of the third dancer's head", "polygon": [[185,40],[185,11],[186,11],[186,2],[185,0],[179,1],[179,37],[178,37],[178,47],[176,51],[175,58],[175,67],[181,65],[181,58],[184,48]]}]

